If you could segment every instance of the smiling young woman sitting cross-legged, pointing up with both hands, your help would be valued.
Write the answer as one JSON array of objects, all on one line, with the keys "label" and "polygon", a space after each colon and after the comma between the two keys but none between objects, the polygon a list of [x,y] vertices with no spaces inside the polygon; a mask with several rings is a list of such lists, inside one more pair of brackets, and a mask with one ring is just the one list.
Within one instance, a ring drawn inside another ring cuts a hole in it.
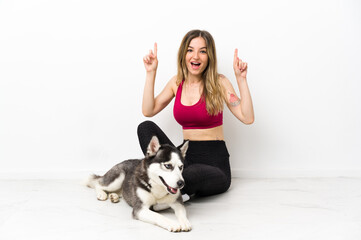
[{"label": "smiling young woman sitting cross-legged, pointing up with both hands", "polygon": [[[146,82],[142,111],[152,117],[162,111],[175,97],[174,118],[183,127],[183,138],[189,140],[185,158],[183,194],[209,196],[227,191],[231,184],[229,153],[223,135],[223,106],[245,124],[254,121],[253,105],[247,84],[247,63],[234,52],[233,68],[240,98],[231,82],[217,72],[216,48],[207,31],[188,32],[178,52],[178,73],[163,91],[154,97],[158,67],[157,44],[144,58]],[[161,144],[174,144],[153,122],[138,127],[141,148],[156,135]]]}]

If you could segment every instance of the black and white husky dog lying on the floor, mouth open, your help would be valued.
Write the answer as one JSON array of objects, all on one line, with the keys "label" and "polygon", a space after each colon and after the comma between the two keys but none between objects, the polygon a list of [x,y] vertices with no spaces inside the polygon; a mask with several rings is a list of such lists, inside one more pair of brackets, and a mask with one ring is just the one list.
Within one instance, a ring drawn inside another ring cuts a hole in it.
[{"label": "black and white husky dog lying on the floor, mouth open", "polygon": [[[92,175],[87,186],[94,188],[99,200],[118,202],[120,195],[133,207],[133,218],[158,225],[171,232],[190,231],[180,189],[184,186],[183,162],[188,142],[179,148],[160,145],[153,137],[143,159],[126,160],[112,167],[104,176]],[[169,205],[178,222],[151,209]]]}]

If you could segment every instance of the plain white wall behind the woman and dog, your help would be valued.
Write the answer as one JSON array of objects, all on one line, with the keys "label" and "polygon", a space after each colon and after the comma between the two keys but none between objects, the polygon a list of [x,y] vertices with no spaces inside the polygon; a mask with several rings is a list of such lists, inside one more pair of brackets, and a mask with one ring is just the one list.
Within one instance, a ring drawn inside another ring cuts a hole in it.
[{"label": "plain white wall behind the woman and dog", "polygon": [[[227,109],[237,177],[361,176],[361,4],[329,1],[0,1],[0,177],[76,177],[142,156],[143,56],[156,93],[191,29],[208,30],[236,88],[249,63],[256,121]],[[181,143],[173,102],[151,120]]]}]

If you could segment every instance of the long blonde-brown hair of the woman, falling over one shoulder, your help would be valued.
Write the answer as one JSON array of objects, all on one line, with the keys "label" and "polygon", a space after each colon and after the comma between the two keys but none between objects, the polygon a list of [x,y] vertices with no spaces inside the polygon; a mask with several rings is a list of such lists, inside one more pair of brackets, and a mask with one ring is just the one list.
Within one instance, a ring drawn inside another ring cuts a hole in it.
[{"label": "long blonde-brown hair of the woman, falling over one shoulder", "polygon": [[225,93],[219,82],[219,74],[217,72],[217,56],[216,46],[212,35],[207,31],[192,30],[183,38],[178,50],[178,73],[177,85],[188,77],[188,69],[186,65],[186,54],[192,39],[202,37],[206,42],[208,66],[205,68],[203,79],[203,96],[206,101],[207,112],[209,115],[217,115],[223,111]]}]

